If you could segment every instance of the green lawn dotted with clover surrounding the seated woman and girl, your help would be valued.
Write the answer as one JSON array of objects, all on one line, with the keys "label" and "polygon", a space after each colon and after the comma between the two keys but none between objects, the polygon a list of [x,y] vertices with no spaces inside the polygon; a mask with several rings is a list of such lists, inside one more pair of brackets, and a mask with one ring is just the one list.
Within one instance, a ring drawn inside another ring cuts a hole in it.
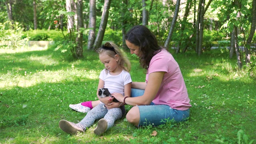
[{"label": "green lawn dotted with clover surrounding the seated woman and girl", "polygon": [[[144,81],[144,70],[131,56],[133,81]],[[236,59],[220,50],[174,54],[191,100],[187,122],[136,128],[125,118],[103,136],[92,132],[70,136],[58,122],[78,122],[85,114],[68,105],[96,99],[98,76],[104,68],[98,54],[84,52],[74,61],[54,48],[0,49],[0,143],[225,143],[248,144],[256,139],[256,78],[238,71]],[[254,73],[255,74],[255,73]],[[131,106],[126,105],[126,110]],[[151,134],[156,131],[157,135]],[[253,141],[252,143],[255,143]]]}]

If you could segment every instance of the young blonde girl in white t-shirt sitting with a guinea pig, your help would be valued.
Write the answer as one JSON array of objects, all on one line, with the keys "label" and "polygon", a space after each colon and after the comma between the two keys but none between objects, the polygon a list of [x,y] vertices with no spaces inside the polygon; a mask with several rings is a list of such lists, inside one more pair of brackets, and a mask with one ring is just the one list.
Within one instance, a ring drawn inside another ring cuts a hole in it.
[{"label": "young blonde girl in white t-shirt sitting with a guinea pig", "polygon": [[[99,76],[98,89],[108,88],[110,93],[116,92],[130,97],[132,79],[129,74],[130,62],[128,58],[123,56],[118,46],[110,42],[106,42],[96,52],[99,53],[100,61],[105,66]],[[115,120],[124,116],[123,102],[112,102],[113,98],[111,97],[100,98],[98,91],[97,96],[101,103],[92,108],[78,124],[60,120],[60,128],[66,133],[76,134],[77,132],[84,132],[86,128],[92,126],[95,120],[102,118],[94,130],[94,134],[100,135],[111,128]]]}]

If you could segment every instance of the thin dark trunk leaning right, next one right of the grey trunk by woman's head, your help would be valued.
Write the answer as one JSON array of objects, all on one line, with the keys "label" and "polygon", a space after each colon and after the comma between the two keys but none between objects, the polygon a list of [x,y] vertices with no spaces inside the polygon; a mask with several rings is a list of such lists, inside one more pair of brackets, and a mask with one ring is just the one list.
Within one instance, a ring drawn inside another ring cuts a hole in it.
[{"label": "thin dark trunk leaning right, next one right of the grey trunk by woman's head", "polygon": [[[191,8],[191,4],[192,4],[192,0],[188,0],[187,1],[187,4],[186,4],[186,8],[185,8],[185,14],[184,14],[184,17],[183,17],[183,20],[182,20],[182,24],[181,24],[181,34],[180,34],[180,38],[183,38],[183,34],[184,34],[184,29],[185,29],[185,22],[187,21],[187,18],[188,18],[188,14],[189,14],[189,11],[190,11],[190,8]],[[176,50],[176,54],[180,53],[180,46],[182,46],[182,41],[179,42],[179,48],[177,48]],[[184,45],[184,44],[183,44]]]}]

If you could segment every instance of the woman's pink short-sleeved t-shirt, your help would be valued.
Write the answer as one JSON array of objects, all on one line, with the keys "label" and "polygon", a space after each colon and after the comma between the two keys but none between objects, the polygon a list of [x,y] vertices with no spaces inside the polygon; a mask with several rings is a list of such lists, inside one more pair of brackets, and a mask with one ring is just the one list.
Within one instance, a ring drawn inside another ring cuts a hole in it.
[{"label": "woman's pink short-sleeved t-shirt", "polygon": [[158,93],[152,101],[154,104],[165,104],[176,110],[187,110],[191,107],[183,76],[172,54],[162,49],[153,56],[146,74],[146,84],[152,72],[166,72]]}]

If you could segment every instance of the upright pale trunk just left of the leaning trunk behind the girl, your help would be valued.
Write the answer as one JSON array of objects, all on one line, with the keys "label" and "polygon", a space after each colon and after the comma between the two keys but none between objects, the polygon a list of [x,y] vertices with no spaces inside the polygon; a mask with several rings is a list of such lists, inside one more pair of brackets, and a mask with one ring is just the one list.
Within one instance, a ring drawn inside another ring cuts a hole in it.
[{"label": "upright pale trunk just left of the leaning trunk behind the girl", "polygon": [[91,50],[93,48],[95,40],[95,30],[96,30],[96,0],[90,0],[90,12],[89,12],[89,36],[88,36],[88,46],[87,49]]}]

